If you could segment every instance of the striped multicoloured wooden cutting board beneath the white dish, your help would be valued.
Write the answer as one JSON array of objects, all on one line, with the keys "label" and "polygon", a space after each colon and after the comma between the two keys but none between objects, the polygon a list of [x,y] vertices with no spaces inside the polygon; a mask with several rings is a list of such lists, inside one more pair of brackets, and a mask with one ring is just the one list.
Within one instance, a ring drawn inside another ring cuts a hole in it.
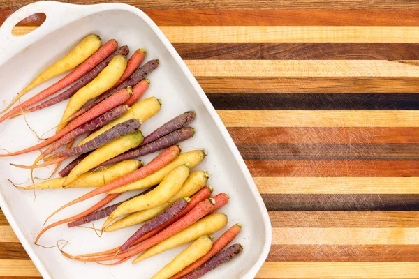
[{"label": "striped multicoloured wooden cutting board beneath the white dish", "polygon": [[[124,2],[166,33],[246,160],[272,220],[257,278],[419,278],[418,1]],[[0,0],[0,24],[31,0],[16,3]],[[6,278],[40,277],[0,214]]]}]

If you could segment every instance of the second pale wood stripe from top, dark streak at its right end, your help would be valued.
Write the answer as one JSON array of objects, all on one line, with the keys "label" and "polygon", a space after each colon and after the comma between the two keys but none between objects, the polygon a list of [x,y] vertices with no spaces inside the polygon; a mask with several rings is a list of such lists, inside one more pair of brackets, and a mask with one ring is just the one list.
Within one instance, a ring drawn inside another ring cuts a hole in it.
[{"label": "second pale wood stripe from top, dark streak at its right end", "polygon": [[197,77],[419,77],[416,60],[186,60],[185,63]]}]

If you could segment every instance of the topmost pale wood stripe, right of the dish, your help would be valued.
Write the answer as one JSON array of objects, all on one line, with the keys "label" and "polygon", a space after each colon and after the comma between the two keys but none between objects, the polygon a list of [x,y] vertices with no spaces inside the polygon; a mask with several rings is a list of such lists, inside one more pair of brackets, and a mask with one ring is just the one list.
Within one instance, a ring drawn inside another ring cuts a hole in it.
[{"label": "topmost pale wood stripe, right of the dish", "polygon": [[161,30],[171,43],[419,43],[418,27],[163,26]]}]

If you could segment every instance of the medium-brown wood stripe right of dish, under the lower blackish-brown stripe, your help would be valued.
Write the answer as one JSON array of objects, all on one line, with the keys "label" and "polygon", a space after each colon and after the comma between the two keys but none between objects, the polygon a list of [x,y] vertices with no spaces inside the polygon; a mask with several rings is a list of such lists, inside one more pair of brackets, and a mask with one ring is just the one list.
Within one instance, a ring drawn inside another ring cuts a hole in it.
[{"label": "medium-brown wood stripe right of dish, under the lower blackish-brown stripe", "polygon": [[419,227],[416,211],[269,211],[272,227]]}]

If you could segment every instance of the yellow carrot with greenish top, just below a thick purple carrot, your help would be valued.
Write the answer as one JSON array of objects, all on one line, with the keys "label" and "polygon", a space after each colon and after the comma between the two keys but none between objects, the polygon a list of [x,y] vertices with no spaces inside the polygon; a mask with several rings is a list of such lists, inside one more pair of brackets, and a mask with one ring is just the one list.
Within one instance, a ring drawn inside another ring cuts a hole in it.
[{"label": "yellow carrot with greenish top, just below a thick purple carrot", "polygon": [[142,138],[142,133],[139,130],[138,132],[124,135],[99,147],[95,151],[91,152],[73,169],[71,169],[71,172],[68,174],[63,186],[73,183],[80,175],[85,172],[89,172],[90,169],[97,167],[101,163],[105,162],[105,160],[109,160],[120,153],[124,153],[125,151],[138,146],[138,144],[142,142]]}]

